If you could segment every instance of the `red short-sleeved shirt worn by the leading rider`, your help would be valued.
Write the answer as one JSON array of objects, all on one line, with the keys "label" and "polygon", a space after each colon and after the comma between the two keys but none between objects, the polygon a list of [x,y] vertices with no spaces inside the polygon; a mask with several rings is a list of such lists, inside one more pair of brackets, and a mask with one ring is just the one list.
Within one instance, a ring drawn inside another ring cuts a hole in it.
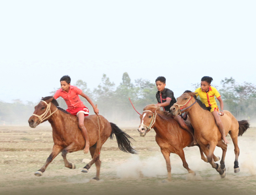
[{"label": "red short-sleeved shirt worn by the leading rider", "polygon": [[54,99],[62,97],[68,105],[68,109],[75,109],[77,107],[85,106],[78,96],[81,95],[81,93],[82,90],[78,89],[76,86],[70,85],[68,93],[60,88],[56,91],[53,97]]}]

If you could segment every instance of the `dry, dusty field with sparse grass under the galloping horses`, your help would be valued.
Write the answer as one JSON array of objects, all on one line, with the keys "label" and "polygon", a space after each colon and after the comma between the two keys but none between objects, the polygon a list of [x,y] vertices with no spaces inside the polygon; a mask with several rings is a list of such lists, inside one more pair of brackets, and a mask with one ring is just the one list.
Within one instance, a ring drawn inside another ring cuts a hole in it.
[{"label": "dry, dusty field with sparse grass under the galloping horses", "polygon": [[[227,176],[220,179],[209,163],[200,159],[197,147],[185,148],[189,168],[196,176],[187,174],[176,154],[171,154],[172,182],[165,182],[165,160],[151,130],[140,137],[136,129],[123,129],[136,142],[138,151],[131,155],[120,151],[116,140],[108,140],[101,152],[100,181],[91,183],[96,175],[95,165],[89,173],[82,173],[86,164],[82,160],[90,154],[82,151],[68,154],[68,160],[76,169],[64,167],[61,155],[48,166],[44,175],[36,172],[44,164],[52,150],[51,127],[0,127],[0,194],[255,194],[256,193],[256,129],[250,128],[239,137],[239,165],[241,171],[234,173],[234,146],[228,136],[226,156]],[[215,155],[221,156],[217,148]]]}]

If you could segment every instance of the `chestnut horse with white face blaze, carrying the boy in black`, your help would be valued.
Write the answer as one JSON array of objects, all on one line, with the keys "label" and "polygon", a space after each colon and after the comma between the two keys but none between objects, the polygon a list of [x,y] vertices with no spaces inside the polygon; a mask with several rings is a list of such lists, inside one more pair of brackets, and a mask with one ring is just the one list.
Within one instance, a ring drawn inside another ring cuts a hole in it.
[{"label": "chestnut horse with white face blaze, carrying the boy in black", "polygon": [[[178,154],[183,162],[183,167],[188,170],[188,173],[195,175],[195,172],[188,168],[188,163],[185,159],[183,148],[190,146],[198,146],[201,154],[201,159],[207,162],[199,144],[193,143],[193,136],[181,128],[179,123],[172,118],[172,114],[160,110],[160,107],[155,104],[150,104],[144,107],[143,113],[140,115],[140,125],[138,131],[140,136],[146,136],[150,129],[156,131],[156,143],[159,145],[168,172],[168,180],[171,181],[171,164],[170,153]],[[189,125],[189,122],[187,122]],[[214,161],[219,161],[220,157],[214,156]]]}]

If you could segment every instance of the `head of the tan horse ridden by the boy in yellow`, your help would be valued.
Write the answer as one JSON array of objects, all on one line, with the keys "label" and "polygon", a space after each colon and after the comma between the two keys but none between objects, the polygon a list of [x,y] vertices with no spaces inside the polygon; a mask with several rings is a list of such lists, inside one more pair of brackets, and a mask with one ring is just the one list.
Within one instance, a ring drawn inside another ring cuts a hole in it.
[{"label": "head of the tan horse ridden by the boy in yellow", "polygon": [[177,102],[170,108],[171,113],[177,116],[178,114],[188,112],[191,109],[191,106],[196,103],[196,100],[193,98],[195,94],[197,93],[183,93],[180,97],[177,98]]}]

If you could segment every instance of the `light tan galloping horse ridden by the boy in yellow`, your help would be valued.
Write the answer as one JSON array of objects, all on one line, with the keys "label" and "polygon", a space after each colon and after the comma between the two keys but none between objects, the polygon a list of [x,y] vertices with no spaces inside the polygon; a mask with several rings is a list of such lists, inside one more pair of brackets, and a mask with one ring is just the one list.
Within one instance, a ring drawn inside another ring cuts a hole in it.
[{"label": "light tan galloping horse ridden by the boy in yellow", "polygon": [[[196,99],[193,98],[195,94],[194,92],[183,93],[170,108],[171,113],[177,115],[179,113],[188,112],[191,125],[194,128],[196,142],[201,146],[212,168],[215,168],[221,175],[221,178],[224,178],[226,176],[225,155],[227,152],[227,144],[222,141],[220,130],[216,125],[213,115],[209,111],[204,110],[197,103]],[[182,108],[180,108],[180,106],[182,106]],[[240,171],[238,166],[240,151],[237,144],[237,137],[242,136],[250,125],[247,120],[237,121],[227,110],[224,110],[224,115],[221,116],[220,119],[225,129],[225,135],[227,136],[229,133],[235,146],[236,157],[234,172],[238,173]],[[222,149],[220,165],[213,162],[213,152],[216,146]]]}]

